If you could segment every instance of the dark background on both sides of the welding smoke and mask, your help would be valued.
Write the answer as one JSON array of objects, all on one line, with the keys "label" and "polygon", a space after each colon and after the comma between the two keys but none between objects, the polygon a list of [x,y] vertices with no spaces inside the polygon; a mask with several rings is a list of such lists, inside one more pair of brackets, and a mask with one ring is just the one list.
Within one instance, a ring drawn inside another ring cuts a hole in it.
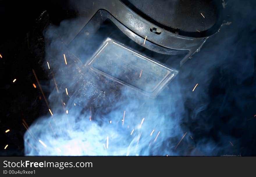
[{"label": "dark background on both sides of the welding smoke and mask", "polygon": [[[232,23],[210,37],[173,81],[184,93],[182,126],[223,147],[214,155],[256,156],[255,5],[254,1],[227,1],[224,19]],[[67,1],[0,1],[2,156],[22,156],[26,131],[22,119],[30,125],[48,113],[43,98],[39,99],[40,90],[32,85],[36,84],[32,68],[47,86],[49,78],[41,67],[45,57],[42,31],[50,21],[58,25],[75,17],[77,11],[72,9]],[[45,10],[49,19],[40,20]],[[186,94],[196,83],[196,93]],[[5,133],[7,129],[10,132]],[[233,146],[225,136],[233,138]]]}]

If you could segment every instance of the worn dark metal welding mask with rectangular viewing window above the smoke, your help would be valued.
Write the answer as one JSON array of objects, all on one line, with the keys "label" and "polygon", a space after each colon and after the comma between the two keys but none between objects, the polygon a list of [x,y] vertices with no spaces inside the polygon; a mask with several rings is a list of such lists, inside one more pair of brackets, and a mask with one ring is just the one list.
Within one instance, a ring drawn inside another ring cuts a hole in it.
[{"label": "worn dark metal welding mask with rectangular viewing window above the smoke", "polygon": [[92,73],[155,97],[218,31],[223,7],[205,0],[87,0],[78,8],[79,23],[65,29],[72,30],[63,39],[68,49]]}]

